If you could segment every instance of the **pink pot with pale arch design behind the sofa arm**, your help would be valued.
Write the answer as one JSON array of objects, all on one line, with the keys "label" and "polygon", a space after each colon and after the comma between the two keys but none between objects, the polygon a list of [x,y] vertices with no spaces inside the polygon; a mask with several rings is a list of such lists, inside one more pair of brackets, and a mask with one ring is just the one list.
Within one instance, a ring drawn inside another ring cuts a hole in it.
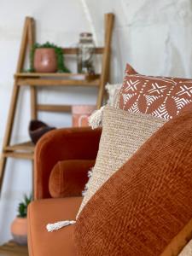
[{"label": "pink pot with pale arch design behind the sofa arm", "polygon": [[94,110],[96,110],[94,105],[72,106],[73,127],[89,126],[89,117]]}]

